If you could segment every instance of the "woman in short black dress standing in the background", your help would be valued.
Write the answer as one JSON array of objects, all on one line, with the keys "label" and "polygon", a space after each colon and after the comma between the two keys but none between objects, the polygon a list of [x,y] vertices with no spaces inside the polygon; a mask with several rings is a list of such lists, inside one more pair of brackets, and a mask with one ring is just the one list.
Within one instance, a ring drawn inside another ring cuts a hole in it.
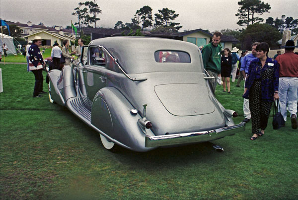
[{"label": "woman in short black dress standing in the background", "polygon": [[224,49],[224,56],[222,56],[221,67],[222,67],[221,75],[223,78],[224,92],[225,92],[225,80],[226,80],[227,93],[230,94],[231,92],[230,92],[229,77],[232,70],[232,57],[231,57],[231,52],[228,48]]}]

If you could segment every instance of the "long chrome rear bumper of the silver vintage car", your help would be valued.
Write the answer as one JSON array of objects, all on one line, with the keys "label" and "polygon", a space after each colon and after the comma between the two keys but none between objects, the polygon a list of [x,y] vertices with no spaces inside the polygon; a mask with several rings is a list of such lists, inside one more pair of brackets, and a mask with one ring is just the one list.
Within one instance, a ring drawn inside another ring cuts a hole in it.
[{"label": "long chrome rear bumper of the silver vintage car", "polygon": [[233,135],[235,133],[243,132],[244,130],[245,130],[245,123],[241,122],[240,124],[237,124],[237,125],[224,127],[221,129],[215,129],[211,131],[146,136],[145,146],[155,147],[155,146],[167,146],[167,145],[205,142],[205,141],[210,141],[214,139],[219,139],[227,135]]}]

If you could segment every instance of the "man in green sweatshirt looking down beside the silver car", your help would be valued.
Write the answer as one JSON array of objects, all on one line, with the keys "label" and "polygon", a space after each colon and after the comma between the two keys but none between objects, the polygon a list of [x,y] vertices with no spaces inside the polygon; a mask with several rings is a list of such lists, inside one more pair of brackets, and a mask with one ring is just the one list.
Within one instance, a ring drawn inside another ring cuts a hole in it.
[{"label": "man in green sweatshirt looking down beside the silver car", "polygon": [[222,33],[216,31],[213,34],[212,42],[202,49],[202,58],[204,63],[204,68],[209,73],[210,76],[214,76],[214,79],[210,79],[210,84],[215,92],[217,85],[218,74],[221,73],[221,51],[222,47],[219,43],[222,39]]}]

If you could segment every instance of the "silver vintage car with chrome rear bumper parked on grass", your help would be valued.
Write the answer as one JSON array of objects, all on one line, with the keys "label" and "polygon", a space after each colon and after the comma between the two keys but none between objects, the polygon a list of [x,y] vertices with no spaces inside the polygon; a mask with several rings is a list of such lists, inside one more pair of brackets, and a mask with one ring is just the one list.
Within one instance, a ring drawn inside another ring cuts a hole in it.
[{"label": "silver vintage car with chrome rear bumper parked on grass", "polygon": [[205,142],[245,129],[215,98],[199,48],[149,37],[96,39],[87,60],[53,69],[51,102],[98,133],[103,146],[149,151]]}]

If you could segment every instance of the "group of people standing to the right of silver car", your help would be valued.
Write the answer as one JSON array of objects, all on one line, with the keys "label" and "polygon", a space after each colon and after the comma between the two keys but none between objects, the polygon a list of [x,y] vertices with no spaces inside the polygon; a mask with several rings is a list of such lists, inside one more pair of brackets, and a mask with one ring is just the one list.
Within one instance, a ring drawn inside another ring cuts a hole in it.
[{"label": "group of people standing to the right of silver car", "polygon": [[[242,50],[241,57],[233,48],[224,49],[221,55],[220,41],[222,34],[215,32],[212,42],[202,48],[202,58],[206,73],[215,77],[210,79],[213,92],[216,90],[217,79],[223,80],[224,92],[230,92],[230,77],[235,81],[237,61],[239,61],[239,76],[236,87],[240,87],[244,79],[243,115],[244,123],[251,121],[251,140],[264,135],[272,102],[279,100],[281,114],[287,121],[287,106],[291,116],[291,126],[298,128],[297,102],[298,102],[298,55],[294,53],[295,43],[288,40],[285,54],[278,51],[274,58],[269,58],[269,45],[265,42],[255,42],[251,45],[251,54]],[[233,55],[234,54],[234,55]],[[226,86],[225,86],[226,84]]]}]

